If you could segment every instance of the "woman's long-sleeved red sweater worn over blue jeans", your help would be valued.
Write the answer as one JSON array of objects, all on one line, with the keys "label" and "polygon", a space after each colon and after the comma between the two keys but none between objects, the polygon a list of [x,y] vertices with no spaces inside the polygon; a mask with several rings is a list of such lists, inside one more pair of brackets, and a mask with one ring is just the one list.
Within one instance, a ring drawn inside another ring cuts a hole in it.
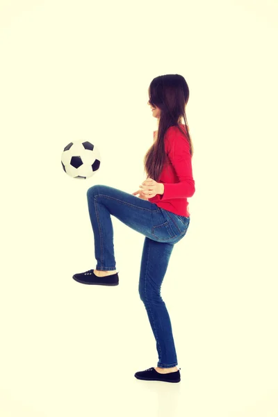
[{"label": "woman's long-sleeved red sweater worn over blue jeans", "polygon": [[[186,133],[185,125],[180,126]],[[149,202],[172,213],[190,217],[187,199],[195,193],[195,181],[189,142],[177,126],[170,126],[165,133],[164,145],[169,162],[166,161],[157,181],[164,184],[164,193],[149,198]]]}]

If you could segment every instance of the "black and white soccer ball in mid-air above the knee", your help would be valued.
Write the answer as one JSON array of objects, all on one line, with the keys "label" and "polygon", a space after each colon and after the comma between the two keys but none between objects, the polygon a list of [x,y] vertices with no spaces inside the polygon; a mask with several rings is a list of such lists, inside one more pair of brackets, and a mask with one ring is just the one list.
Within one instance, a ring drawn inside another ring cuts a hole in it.
[{"label": "black and white soccer ball in mid-air above the knee", "polygon": [[63,170],[70,177],[86,179],[99,170],[101,157],[99,149],[91,142],[75,140],[65,147],[61,161]]}]

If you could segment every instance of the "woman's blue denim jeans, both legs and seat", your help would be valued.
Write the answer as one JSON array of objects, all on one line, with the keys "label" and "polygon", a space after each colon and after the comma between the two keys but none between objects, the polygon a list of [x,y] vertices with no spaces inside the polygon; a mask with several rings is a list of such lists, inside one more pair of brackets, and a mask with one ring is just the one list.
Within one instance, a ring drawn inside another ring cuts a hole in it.
[{"label": "woman's blue denim jeans, both legs and seat", "polygon": [[157,366],[177,366],[172,326],[161,298],[161,284],[174,244],[186,235],[190,218],[109,186],[90,187],[87,199],[95,237],[95,269],[116,270],[111,215],[145,236],[140,265],[140,299],[145,304],[156,339]]}]

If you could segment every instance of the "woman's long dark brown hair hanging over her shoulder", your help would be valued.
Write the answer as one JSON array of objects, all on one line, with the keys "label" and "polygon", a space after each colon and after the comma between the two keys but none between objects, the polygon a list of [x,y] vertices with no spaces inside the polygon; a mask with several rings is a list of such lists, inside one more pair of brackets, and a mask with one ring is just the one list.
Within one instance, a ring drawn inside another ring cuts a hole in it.
[{"label": "woman's long dark brown hair hanging over her shoulder", "polygon": [[[158,181],[163,165],[167,160],[164,148],[164,136],[170,126],[177,126],[190,145],[193,156],[193,143],[186,119],[186,104],[189,99],[189,88],[186,80],[179,74],[157,76],[149,85],[149,104],[153,108],[160,108],[161,115],[158,122],[157,139],[144,157],[145,172],[148,178]],[[179,123],[183,117],[185,129]]]}]

